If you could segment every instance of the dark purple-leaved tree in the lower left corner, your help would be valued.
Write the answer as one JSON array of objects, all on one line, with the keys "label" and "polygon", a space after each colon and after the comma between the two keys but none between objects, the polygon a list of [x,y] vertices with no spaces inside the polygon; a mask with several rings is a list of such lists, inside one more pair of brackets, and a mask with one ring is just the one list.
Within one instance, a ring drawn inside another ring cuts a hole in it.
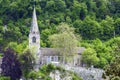
[{"label": "dark purple-leaved tree in the lower left corner", "polygon": [[9,76],[11,80],[17,80],[21,77],[22,71],[20,69],[20,63],[13,50],[7,49],[4,52],[1,69],[2,75]]}]

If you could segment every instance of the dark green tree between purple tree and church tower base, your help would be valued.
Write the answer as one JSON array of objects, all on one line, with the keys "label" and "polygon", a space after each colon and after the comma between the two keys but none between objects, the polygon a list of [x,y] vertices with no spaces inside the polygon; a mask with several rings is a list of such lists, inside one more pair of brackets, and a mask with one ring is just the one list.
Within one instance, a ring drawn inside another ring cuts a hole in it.
[{"label": "dark green tree between purple tree and church tower base", "polygon": [[19,56],[19,60],[21,62],[23,76],[27,78],[28,73],[33,70],[33,67],[35,65],[35,58],[30,50],[26,50]]}]

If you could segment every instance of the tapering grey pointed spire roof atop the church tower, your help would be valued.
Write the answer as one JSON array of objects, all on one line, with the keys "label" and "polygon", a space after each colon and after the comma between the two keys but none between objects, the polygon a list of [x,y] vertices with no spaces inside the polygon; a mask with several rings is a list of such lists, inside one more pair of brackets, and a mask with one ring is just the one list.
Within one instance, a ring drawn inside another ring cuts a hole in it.
[{"label": "tapering grey pointed spire roof atop the church tower", "polygon": [[33,10],[33,17],[32,17],[30,32],[39,32],[35,7]]}]

